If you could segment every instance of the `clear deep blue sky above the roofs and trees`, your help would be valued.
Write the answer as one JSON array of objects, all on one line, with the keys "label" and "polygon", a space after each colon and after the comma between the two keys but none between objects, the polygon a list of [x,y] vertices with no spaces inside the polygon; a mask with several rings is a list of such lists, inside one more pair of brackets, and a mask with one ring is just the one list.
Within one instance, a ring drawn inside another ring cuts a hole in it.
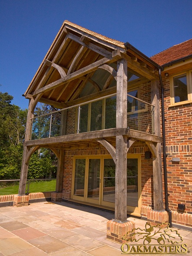
[{"label": "clear deep blue sky above the roofs and trees", "polygon": [[191,0],[0,0],[0,91],[22,97],[64,20],[153,56],[192,38]]}]

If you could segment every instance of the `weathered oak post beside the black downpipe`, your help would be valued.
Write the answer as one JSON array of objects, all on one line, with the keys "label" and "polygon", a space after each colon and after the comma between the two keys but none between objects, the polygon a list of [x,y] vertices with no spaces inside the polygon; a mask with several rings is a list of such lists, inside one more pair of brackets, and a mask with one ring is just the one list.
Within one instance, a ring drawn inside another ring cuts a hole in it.
[{"label": "weathered oak post beside the black downpipe", "polygon": [[[159,106],[159,81],[151,81],[151,103],[155,105],[153,112],[153,133],[160,137],[160,106]],[[154,210],[163,210],[163,180],[161,162],[161,143],[157,142],[156,157],[153,156],[153,204]]]}]

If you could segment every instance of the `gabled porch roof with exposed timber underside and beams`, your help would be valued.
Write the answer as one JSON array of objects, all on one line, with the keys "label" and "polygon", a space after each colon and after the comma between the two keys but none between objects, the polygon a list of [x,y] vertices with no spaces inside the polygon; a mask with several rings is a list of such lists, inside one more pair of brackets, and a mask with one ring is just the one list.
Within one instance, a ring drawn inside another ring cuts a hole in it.
[{"label": "gabled porch roof with exposed timber underside and beams", "polygon": [[[114,86],[116,79],[112,64],[125,58],[128,69],[139,77],[156,79],[155,66],[142,56],[127,50],[124,43],[94,33],[74,23],[65,21],[43,59],[36,75],[26,90],[26,98],[40,93],[40,102],[65,107],[77,100],[89,83],[99,93]],[[107,68],[107,65],[111,67]],[[94,72],[103,67],[105,83],[92,80]],[[94,92],[94,91],[93,91]]]}]

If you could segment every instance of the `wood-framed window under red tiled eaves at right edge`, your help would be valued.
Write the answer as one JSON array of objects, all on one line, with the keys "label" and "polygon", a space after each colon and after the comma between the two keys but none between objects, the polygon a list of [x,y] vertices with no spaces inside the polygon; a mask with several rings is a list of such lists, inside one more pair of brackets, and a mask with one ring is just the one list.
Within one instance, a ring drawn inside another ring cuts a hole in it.
[{"label": "wood-framed window under red tiled eaves at right edge", "polygon": [[171,76],[171,104],[192,101],[192,70]]}]

